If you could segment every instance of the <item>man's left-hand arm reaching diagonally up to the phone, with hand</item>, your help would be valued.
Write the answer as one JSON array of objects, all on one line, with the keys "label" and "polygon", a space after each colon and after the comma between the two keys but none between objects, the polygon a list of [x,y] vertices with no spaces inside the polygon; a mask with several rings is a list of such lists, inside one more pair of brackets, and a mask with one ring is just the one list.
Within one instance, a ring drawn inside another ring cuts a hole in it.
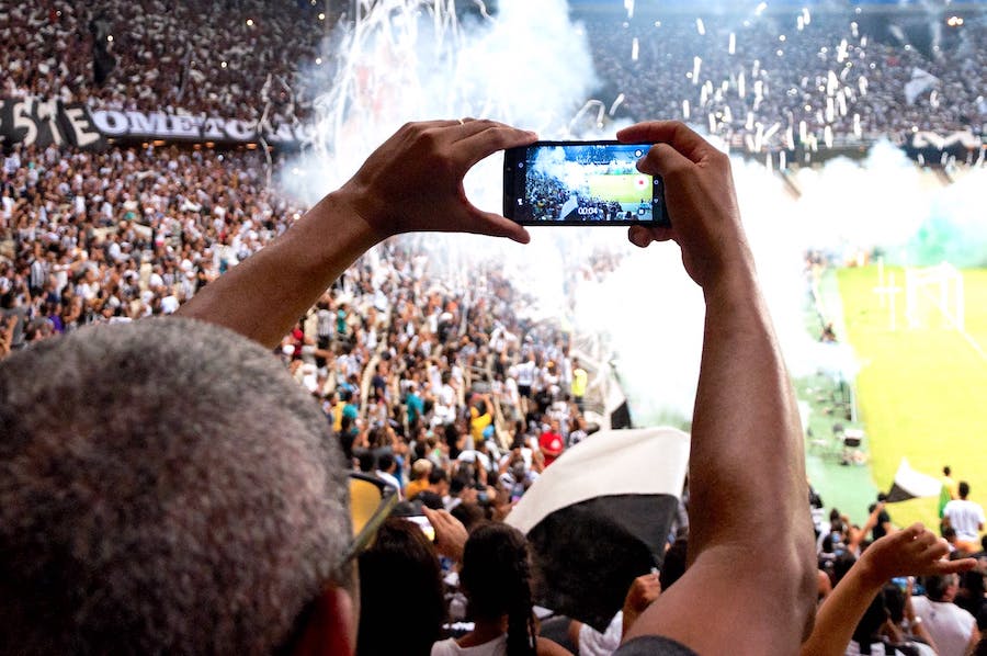
[{"label": "man's left-hand arm reaching diagonally up to the phone, with hand", "polygon": [[273,348],[347,267],[387,237],[442,230],[526,242],[524,228],[469,203],[463,177],[497,150],[535,138],[494,121],[409,123],[341,189],[203,287],[178,314],[227,326]]}]

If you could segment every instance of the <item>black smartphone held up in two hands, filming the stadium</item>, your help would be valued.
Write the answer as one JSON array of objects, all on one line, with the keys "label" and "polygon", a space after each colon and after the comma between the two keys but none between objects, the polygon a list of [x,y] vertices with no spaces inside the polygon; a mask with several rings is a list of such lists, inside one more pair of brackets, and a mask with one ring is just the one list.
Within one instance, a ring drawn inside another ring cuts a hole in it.
[{"label": "black smartphone held up in two hands, filming the stadium", "polygon": [[522,226],[668,227],[660,176],[637,170],[651,144],[536,142],[503,156],[503,215]]}]

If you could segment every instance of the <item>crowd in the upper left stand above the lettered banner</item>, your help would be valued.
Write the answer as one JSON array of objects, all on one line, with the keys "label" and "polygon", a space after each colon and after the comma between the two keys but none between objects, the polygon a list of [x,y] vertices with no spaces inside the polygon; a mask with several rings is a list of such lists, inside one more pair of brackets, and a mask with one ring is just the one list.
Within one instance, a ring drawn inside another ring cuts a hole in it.
[{"label": "crowd in the upper left stand above the lettered banner", "polygon": [[[321,2],[319,7],[321,7]],[[257,121],[310,115],[330,24],[309,2],[0,2],[0,97]],[[95,47],[94,47],[95,46]],[[94,52],[106,50],[97,83]],[[111,64],[112,63],[112,64]],[[328,59],[327,59],[328,67]]]}]

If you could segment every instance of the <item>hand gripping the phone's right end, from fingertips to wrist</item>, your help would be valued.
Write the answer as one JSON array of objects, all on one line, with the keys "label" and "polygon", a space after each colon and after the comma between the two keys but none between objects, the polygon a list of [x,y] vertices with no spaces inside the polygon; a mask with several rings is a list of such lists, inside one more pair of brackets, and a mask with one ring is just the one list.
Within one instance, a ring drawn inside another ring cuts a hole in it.
[{"label": "hand gripping the phone's right end, from fingertips to wrist", "polygon": [[634,245],[674,240],[685,271],[704,290],[738,268],[752,271],[726,154],[677,121],[638,123],[616,136],[624,143],[654,143],[637,168],[665,179],[671,227],[632,226],[628,238]]}]

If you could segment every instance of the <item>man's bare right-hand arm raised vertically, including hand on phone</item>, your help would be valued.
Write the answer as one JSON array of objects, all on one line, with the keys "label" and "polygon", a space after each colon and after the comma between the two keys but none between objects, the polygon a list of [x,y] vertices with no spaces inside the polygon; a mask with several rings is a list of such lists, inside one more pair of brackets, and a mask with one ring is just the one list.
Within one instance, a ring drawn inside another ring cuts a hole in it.
[{"label": "man's bare right-hand arm raised vertically, including hand on phone", "polygon": [[729,159],[681,123],[638,124],[617,138],[656,143],[638,168],[665,178],[671,218],[671,228],[632,227],[631,241],[678,242],[706,302],[689,470],[690,567],[628,641],[660,634],[700,654],[794,654],[816,599],[803,436]]}]

